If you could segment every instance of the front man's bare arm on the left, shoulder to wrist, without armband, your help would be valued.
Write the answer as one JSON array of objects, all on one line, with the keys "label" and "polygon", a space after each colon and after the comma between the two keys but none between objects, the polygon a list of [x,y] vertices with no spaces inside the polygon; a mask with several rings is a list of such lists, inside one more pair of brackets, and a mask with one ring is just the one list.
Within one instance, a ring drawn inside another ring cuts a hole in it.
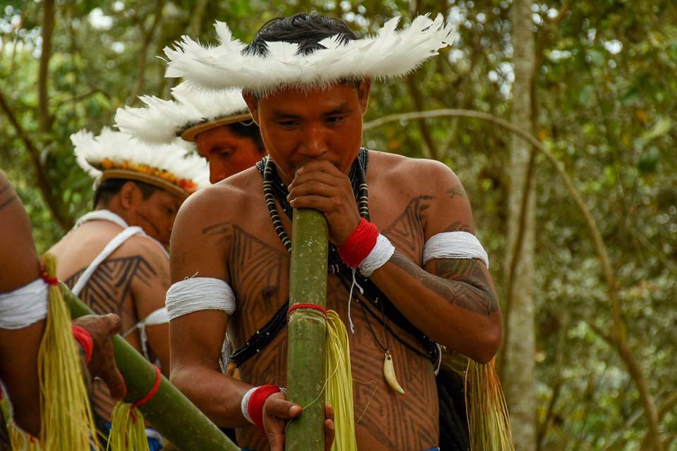
[{"label": "front man's bare arm on the left, shoulder to wrist, without armband", "polygon": [[[171,280],[195,276],[228,280],[224,247],[203,233],[209,222],[209,193],[197,192],[181,206],[171,233]],[[200,218],[200,219],[198,219]],[[169,323],[171,382],[219,426],[249,422],[240,401],[251,385],[221,373],[219,357],[228,315],[205,310],[179,316]]]}]

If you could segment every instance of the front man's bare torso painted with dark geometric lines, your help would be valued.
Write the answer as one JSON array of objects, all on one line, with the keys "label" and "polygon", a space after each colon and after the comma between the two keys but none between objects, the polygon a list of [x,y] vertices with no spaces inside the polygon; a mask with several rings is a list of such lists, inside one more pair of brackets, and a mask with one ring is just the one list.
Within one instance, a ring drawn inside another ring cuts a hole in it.
[{"label": "front man's bare torso painted with dark geometric lines", "polygon": [[[398,177],[398,173],[404,173],[403,161],[399,156],[370,152],[367,171],[370,216],[396,249],[420,265],[425,241],[422,212],[430,198]],[[236,190],[238,200],[236,205],[228,205],[228,211],[238,211],[238,216],[225,213],[219,221],[218,215],[211,214],[202,233],[226,256],[228,281],[238,302],[228,328],[238,347],[288,299],[289,256],[272,227],[257,170],[245,171],[227,181],[213,187],[213,195],[217,196],[221,189]],[[291,235],[291,222],[286,217],[282,220]],[[327,292],[328,307],[336,310],[347,325],[348,290],[336,276],[329,276]],[[373,451],[420,451],[436,446],[439,417],[432,363],[390,336],[389,351],[394,357],[398,381],[405,390],[404,395],[395,393],[386,384],[382,371],[384,351],[377,344],[377,340],[382,345],[386,343],[382,323],[370,317],[374,338],[354,300],[351,316],[355,325],[355,334],[350,335],[350,354],[358,446]],[[389,326],[410,345],[421,349],[408,333],[391,323]],[[245,362],[240,375],[252,385],[285,385],[286,330]],[[254,427],[241,429],[238,443],[252,450],[268,448],[267,441]]]}]

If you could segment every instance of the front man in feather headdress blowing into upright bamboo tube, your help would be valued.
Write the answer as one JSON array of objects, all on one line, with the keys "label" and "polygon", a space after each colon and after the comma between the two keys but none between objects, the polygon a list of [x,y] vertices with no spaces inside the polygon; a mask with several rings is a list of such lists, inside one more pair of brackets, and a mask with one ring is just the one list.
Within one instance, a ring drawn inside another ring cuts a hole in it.
[{"label": "front man in feather headdress blowing into upright bamboo tube", "polygon": [[[340,20],[298,14],[246,47],[217,23],[219,46],[184,38],[166,49],[167,76],[242,87],[269,152],[191,196],[171,238],[171,381],[216,424],[240,428],[246,450],[283,450],[285,423],[302,412],[279,389],[292,208],[329,223],[327,307],[352,330],[359,449],[437,449],[439,345],[477,362],[499,347],[501,314],[461,182],[441,163],[361,147],[372,80],[409,73],[451,39],[440,17],[396,25],[357,39]],[[242,381],[219,371],[226,327]]]}]

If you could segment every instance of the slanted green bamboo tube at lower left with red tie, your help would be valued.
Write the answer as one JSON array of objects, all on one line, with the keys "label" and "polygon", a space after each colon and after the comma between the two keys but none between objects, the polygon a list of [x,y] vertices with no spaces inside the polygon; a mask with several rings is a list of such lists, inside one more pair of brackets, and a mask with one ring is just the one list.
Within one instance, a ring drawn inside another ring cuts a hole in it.
[{"label": "slanted green bamboo tube at lower left with red tie", "polygon": [[[94,314],[63,283],[61,290],[73,318]],[[113,337],[113,347],[115,362],[127,385],[125,402],[138,401],[153,387],[156,378],[155,369],[120,335]],[[153,428],[179,450],[240,451],[237,445],[228,440],[228,437],[164,376],[161,376],[157,393],[138,409]]]}]

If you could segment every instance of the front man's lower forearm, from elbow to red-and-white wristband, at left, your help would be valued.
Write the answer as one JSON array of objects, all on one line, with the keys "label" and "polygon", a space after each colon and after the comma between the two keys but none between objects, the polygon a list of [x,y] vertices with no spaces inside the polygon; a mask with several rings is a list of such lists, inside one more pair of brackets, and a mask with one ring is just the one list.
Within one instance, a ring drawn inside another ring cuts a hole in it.
[{"label": "front man's lower forearm, from elbow to red-and-white wristband, at left", "polygon": [[252,385],[205,366],[172,368],[170,381],[216,425],[224,428],[250,425],[242,415],[240,402]]}]

